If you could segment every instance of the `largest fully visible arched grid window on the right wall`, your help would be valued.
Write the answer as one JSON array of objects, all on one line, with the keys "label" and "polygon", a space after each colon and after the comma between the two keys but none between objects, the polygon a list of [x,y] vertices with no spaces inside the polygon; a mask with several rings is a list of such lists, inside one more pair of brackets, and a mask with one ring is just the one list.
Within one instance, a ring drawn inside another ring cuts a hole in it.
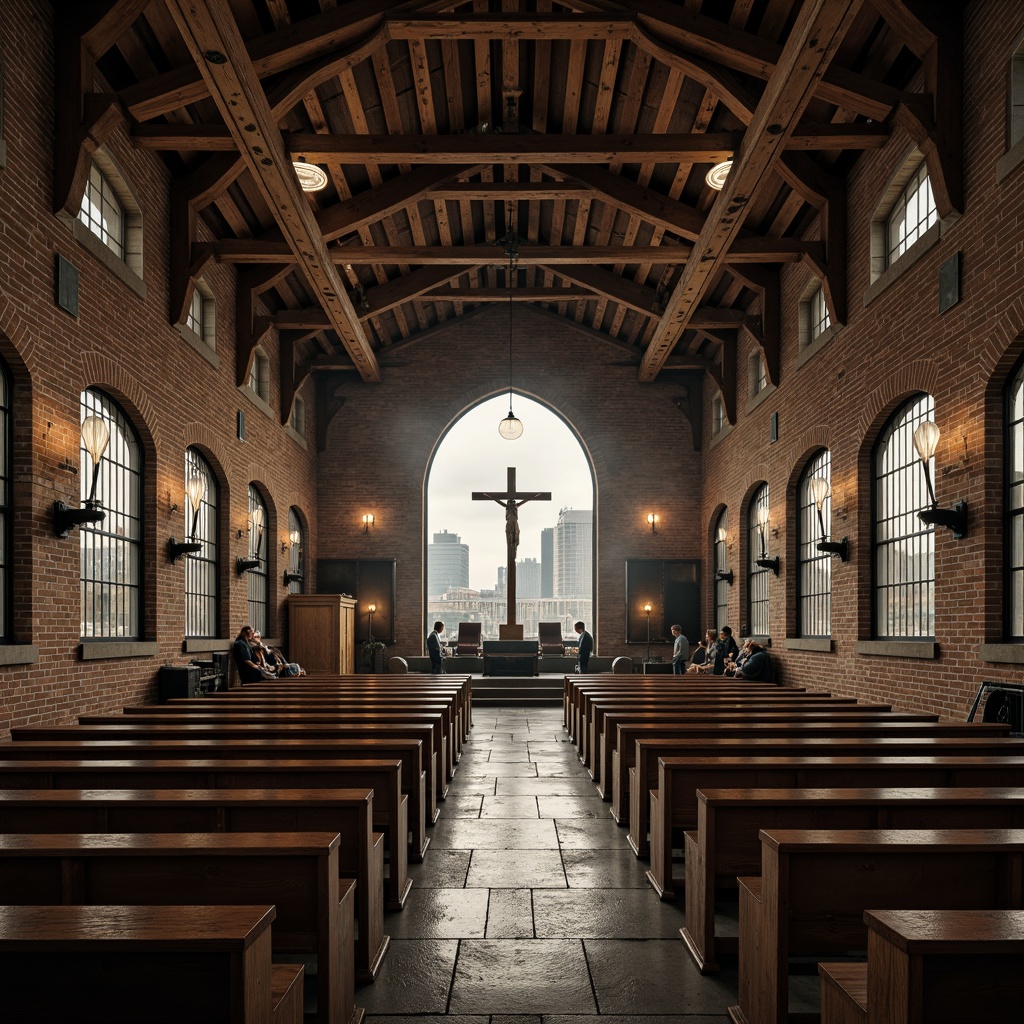
[{"label": "largest fully visible arched grid window on the right wall", "polygon": [[935,528],[918,518],[929,505],[913,432],[934,420],[920,394],[901,406],[874,447],[874,635],[902,640],[935,635]]}]

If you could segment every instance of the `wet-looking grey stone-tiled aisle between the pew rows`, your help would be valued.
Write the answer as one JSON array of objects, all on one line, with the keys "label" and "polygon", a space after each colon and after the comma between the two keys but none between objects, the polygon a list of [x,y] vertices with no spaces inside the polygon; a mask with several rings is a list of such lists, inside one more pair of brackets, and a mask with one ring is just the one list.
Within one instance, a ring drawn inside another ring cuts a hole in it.
[{"label": "wet-looking grey stone-tiled aisle between the pew rows", "polygon": [[727,1021],[735,969],[705,978],[693,967],[682,901],[662,903],[647,885],[561,708],[473,718],[406,908],[385,919],[391,948],[377,981],[356,990],[368,1019]]}]

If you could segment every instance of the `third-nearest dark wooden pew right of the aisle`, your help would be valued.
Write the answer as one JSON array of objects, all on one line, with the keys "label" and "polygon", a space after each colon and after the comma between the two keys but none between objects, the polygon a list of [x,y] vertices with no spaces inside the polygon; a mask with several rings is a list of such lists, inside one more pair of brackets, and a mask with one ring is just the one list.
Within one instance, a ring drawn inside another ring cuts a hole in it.
[{"label": "third-nearest dark wooden pew right of the aisle", "polygon": [[[699,790],[685,842],[686,926],[680,935],[702,974],[735,954],[715,935],[716,890],[761,870],[762,828],[1022,828],[1024,788]],[[673,879],[673,888],[678,888]]]}]

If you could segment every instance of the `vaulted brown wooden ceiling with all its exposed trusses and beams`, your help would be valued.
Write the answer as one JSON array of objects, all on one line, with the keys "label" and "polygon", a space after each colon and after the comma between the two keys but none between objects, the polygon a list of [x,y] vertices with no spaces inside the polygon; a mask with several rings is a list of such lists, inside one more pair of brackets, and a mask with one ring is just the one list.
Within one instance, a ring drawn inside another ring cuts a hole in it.
[{"label": "vaulted brown wooden ceiling with all its exposed trusses and beams", "polygon": [[58,115],[57,206],[126,122],[173,172],[172,321],[211,260],[237,264],[240,381],[276,328],[289,406],[310,372],[380,380],[393,347],[507,302],[510,254],[514,300],[618,344],[642,381],[728,385],[739,331],[775,380],[781,264],[846,321],[863,151],[908,128],[940,213],[962,205],[951,0],[56,6],[58,111],[83,112]]}]

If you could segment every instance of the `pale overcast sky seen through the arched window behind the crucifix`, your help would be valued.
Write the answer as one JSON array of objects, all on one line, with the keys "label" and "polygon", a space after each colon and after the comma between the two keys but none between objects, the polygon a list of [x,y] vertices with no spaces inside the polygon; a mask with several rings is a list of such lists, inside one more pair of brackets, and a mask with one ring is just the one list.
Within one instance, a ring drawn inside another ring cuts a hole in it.
[{"label": "pale overcast sky seen through the arched window behind the crucifix", "polygon": [[517,559],[541,560],[541,530],[554,526],[562,508],[592,509],[594,484],[580,442],[550,410],[516,395],[512,408],[522,436],[507,441],[498,424],[508,416],[508,395],[481,402],[441,441],[427,484],[427,540],[447,530],[469,545],[469,586],[490,590],[505,564],[505,512],[497,502],[474,502],[474,490],[503,492],[508,467],[517,490],[550,490],[550,502],[519,509]]}]

